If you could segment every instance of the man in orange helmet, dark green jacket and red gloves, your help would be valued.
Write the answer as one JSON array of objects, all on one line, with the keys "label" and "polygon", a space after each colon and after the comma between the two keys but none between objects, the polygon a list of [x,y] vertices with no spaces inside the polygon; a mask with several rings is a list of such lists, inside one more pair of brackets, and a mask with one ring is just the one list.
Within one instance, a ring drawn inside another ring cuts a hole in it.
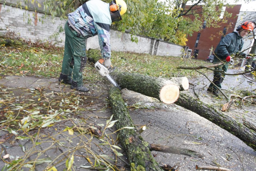
[{"label": "man in orange helmet, dark green jacket and red gloves", "polygon": [[[214,63],[223,62],[223,65],[215,67],[213,73],[213,83],[210,84],[207,91],[214,95],[218,95],[218,88],[221,88],[221,83],[225,78],[225,74],[221,74],[220,71],[226,73],[228,70],[228,65],[233,62],[231,54],[237,54],[242,50],[243,47],[243,37],[251,32],[255,28],[256,24],[251,21],[247,21],[239,25],[236,32],[227,34],[221,39],[220,43],[214,51]],[[245,56],[247,59],[250,56],[240,53],[240,55]]]}]

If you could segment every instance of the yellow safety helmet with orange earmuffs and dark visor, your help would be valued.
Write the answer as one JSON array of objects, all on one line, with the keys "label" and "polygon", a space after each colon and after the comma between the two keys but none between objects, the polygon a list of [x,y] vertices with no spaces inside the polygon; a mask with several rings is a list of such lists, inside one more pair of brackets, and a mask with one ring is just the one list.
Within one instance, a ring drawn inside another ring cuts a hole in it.
[{"label": "yellow safety helmet with orange earmuffs and dark visor", "polygon": [[109,5],[112,22],[122,20],[122,15],[127,11],[127,5],[123,0],[114,0]]}]

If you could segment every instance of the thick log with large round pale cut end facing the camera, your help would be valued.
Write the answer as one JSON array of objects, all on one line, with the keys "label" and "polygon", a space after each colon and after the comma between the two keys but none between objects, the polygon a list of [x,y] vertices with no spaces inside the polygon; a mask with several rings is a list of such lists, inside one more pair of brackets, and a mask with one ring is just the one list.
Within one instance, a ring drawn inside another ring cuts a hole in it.
[{"label": "thick log with large round pale cut end facing the camera", "polygon": [[[137,73],[116,73],[115,79],[121,88],[127,88],[146,96],[154,97],[166,104],[172,104],[179,98],[179,81],[149,77]],[[174,79],[174,78],[173,78]]]}]

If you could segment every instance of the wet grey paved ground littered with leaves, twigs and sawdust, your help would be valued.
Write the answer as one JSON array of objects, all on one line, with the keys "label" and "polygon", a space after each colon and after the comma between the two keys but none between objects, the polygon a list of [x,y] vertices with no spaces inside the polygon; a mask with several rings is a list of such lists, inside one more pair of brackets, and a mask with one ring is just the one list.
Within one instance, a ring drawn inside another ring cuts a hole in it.
[{"label": "wet grey paved ground littered with leaves, twigs and sawdust", "polygon": [[[238,71],[230,70],[229,72]],[[212,79],[211,75],[209,77]],[[243,78],[241,75],[227,76],[223,88],[230,93],[239,88],[248,90],[255,88],[251,82],[247,82]],[[216,100],[206,92],[206,85],[209,83],[207,81],[200,79],[194,82],[197,85],[196,91],[199,93],[199,97],[204,102],[217,104],[218,101],[220,103],[221,99]],[[198,82],[200,84],[197,84]],[[0,80],[0,84],[2,106],[7,105],[11,108],[11,104],[14,104],[15,100],[19,102],[20,106],[24,106],[29,101],[33,103],[29,106],[30,108],[19,108],[19,106],[13,108],[24,114],[19,120],[12,118],[17,123],[22,123],[21,119],[26,117],[25,114],[29,113],[28,110],[35,108],[42,112],[43,117],[59,115],[58,119],[50,123],[50,127],[36,127],[28,134],[25,133],[25,130],[16,132],[17,135],[10,134],[5,127],[1,127],[0,156],[2,160],[0,168],[7,166],[8,163],[14,163],[13,161],[17,159],[16,163],[19,164],[14,167],[16,169],[29,170],[29,167],[32,167],[35,170],[45,170],[47,167],[54,166],[57,170],[63,170],[69,166],[72,156],[74,156],[72,170],[90,170],[90,168],[92,169],[90,166],[103,167],[103,163],[107,163],[106,165],[110,168],[116,165],[119,169],[122,168],[121,170],[129,170],[125,152],[121,144],[116,141],[117,133],[114,133],[116,128],[114,126],[105,127],[106,120],[112,115],[107,101],[109,85],[86,84],[90,91],[80,93],[71,90],[69,85],[60,84],[57,79],[6,76]],[[203,89],[198,91],[199,88]],[[160,166],[169,164],[181,171],[196,170],[196,165],[219,166],[230,170],[256,170],[256,152],[240,139],[205,118],[178,105],[165,105],[156,99],[130,90],[123,89],[122,96],[129,107],[129,113],[136,127],[144,125],[147,127],[141,133],[145,141],[188,148],[205,156],[200,159],[152,151],[151,153]],[[7,98],[14,101],[5,104],[4,100]],[[68,101],[77,105],[71,106]],[[36,106],[39,102],[41,102],[41,106]],[[44,106],[44,104],[51,105]],[[60,113],[56,112],[58,106],[62,109],[59,111]],[[4,109],[0,110],[1,120],[6,119],[3,117],[5,116],[3,112],[7,110]],[[246,114],[255,120],[255,107],[251,109],[244,106],[243,109],[232,109],[235,112],[237,110],[248,110]],[[88,131],[75,130],[75,127],[86,127],[89,124],[102,126],[100,130],[104,132],[104,136],[97,138]],[[73,128],[73,132],[68,130],[70,128]],[[36,135],[34,135],[35,132],[37,132]],[[120,149],[113,148],[113,145]],[[123,156],[118,156],[113,149],[122,153]],[[11,157],[3,160],[2,157],[7,154]],[[68,164],[66,164],[67,159]]]}]

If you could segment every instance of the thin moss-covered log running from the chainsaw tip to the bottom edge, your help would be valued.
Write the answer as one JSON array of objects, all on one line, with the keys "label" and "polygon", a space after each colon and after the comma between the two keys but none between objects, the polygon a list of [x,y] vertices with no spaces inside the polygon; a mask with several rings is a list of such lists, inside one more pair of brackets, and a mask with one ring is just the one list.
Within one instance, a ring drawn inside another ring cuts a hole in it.
[{"label": "thin moss-covered log running from the chainsaw tip to the bottom edge", "polygon": [[162,170],[151,155],[148,143],[143,141],[138,131],[122,129],[123,127],[134,127],[134,125],[118,88],[110,88],[109,102],[114,114],[113,118],[118,120],[115,126],[117,129],[121,129],[119,139],[128,156],[131,170]]}]

